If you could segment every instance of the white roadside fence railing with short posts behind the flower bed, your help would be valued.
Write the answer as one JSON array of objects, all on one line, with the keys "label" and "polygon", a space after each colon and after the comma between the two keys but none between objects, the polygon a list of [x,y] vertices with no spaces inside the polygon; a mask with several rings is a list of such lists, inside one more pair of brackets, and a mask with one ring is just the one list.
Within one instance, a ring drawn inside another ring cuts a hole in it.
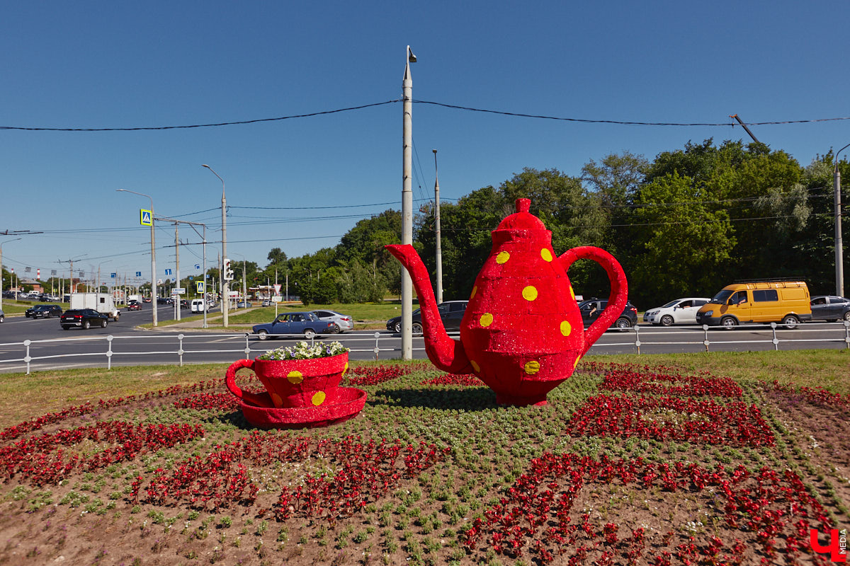
[{"label": "white roadside fence railing with short posts behind the flower bed", "polygon": [[[749,332],[748,337],[745,337],[738,332]],[[789,334],[794,333],[794,336]],[[815,337],[814,334],[818,333]],[[800,335],[802,334],[802,338]],[[810,343],[815,345],[827,344],[842,344],[843,347],[850,349],[850,321],[833,322],[825,324],[806,324],[796,328],[783,328],[781,325],[771,323],[769,328],[764,325],[742,325],[733,329],[717,328],[717,327],[683,327],[676,328],[674,331],[670,328],[649,328],[634,327],[625,331],[618,332],[616,329],[610,330],[605,334],[606,338],[614,336],[623,336],[623,340],[610,342],[598,341],[593,345],[591,352],[594,350],[599,352],[604,348],[630,346],[638,354],[641,353],[643,346],[693,346],[702,345],[706,351],[711,350],[711,346],[724,345],[773,345],[774,350],[779,350],[780,344],[794,343]],[[272,337],[269,334],[269,337]],[[275,338],[303,339],[303,336],[291,334],[275,335]],[[660,339],[655,340],[658,337]],[[673,337],[674,339],[671,339]],[[348,334],[345,337],[334,337],[342,340],[345,345],[354,353],[369,353],[374,355],[377,360],[384,354],[384,359],[389,359],[395,356],[396,352],[400,352],[401,348],[396,344],[399,342],[399,336],[391,333],[376,332],[371,336],[368,334]],[[651,341],[648,341],[651,340]],[[144,342],[166,341],[173,344],[171,348],[162,348],[157,345],[151,346],[145,350]],[[49,350],[68,343],[74,344],[74,351],[63,351],[61,353],[42,352],[40,350]],[[371,345],[374,343],[374,346]],[[121,347],[122,345],[127,347]],[[21,342],[8,342],[0,344],[0,356],[11,354],[20,351],[20,357],[3,357],[0,359],[0,368],[3,364],[25,364],[26,373],[31,373],[31,364],[36,361],[62,360],[71,361],[80,358],[105,358],[105,365],[108,369],[112,367],[113,359],[125,356],[159,356],[157,362],[169,363],[172,361],[178,362],[180,366],[184,365],[185,356],[195,355],[214,355],[222,354],[239,354],[250,357],[252,352],[258,351],[252,349],[251,345],[268,345],[269,349],[275,345],[268,341],[261,342],[257,336],[250,333],[195,333],[195,334],[166,334],[153,333],[150,335],[139,336],[88,336],[84,338],[61,338],[61,339],[43,339],[30,340],[26,339]],[[290,342],[289,344],[292,344]],[[142,349],[139,349],[141,345]],[[228,347],[233,345],[233,347]],[[235,347],[238,345],[239,347]],[[284,344],[286,345],[286,344]],[[131,349],[131,346],[134,347]],[[224,347],[222,347],[224,346]],[[360,347],[362,346],[362,347]],[[20,350],[19,350],[20,349]],[[34,351],[35,350],[35,351]],[[416,351],[422,351],[424,348],[414,348]],[[221,361],[221,360],[215,360]],[[71,365],[69,363],[68,365]]]}]

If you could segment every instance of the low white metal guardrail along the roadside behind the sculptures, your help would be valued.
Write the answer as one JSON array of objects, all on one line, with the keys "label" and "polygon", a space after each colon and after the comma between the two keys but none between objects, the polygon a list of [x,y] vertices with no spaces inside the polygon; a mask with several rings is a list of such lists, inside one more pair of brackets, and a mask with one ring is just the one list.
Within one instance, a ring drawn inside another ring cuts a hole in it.
[{"label": "low white metal guardrail along the roadside behind the sculptures", "polygon": [[[817,328],[815,328],[817,327]],[[825,338],[817,338],[817,339],[807,339],[807,338],[780,338],[782,333],[787,332],[797,332],[797,333],[814,333],[825,332],[823,327],[827,327],[828,331],[835,330],[836,338],[834,339],[825,339]],[[757,328],[759,331],[765,331],[764,325],[740,325],[735,327],[734,329],[747,329],[747,328]],[[731,329],[731,330],[734,330]],[[734,334],[729,334],[730,329],[723,327],[709,327],[702,326],[700,327],[683,327],[677,328],[677,334],[684,335],[694,335],[699,334],[701,339],[689,339],[689,340],[675,340],[675,341],[660,341],[660,342],[651,342],[646,343],[641,340],[641,337],[651,336],[651,335],[670,335],[669,331],[661,331],[660,329],[649,329],[649,330],[641,330],[640,327],[636,326],[628,329],[615,329],[612,328],[609,330],[608,335],[610,333],[616,333],[618,330],[624,333],[629,337],[628,341],[607,342],[605,344],[599,344],[597,342],[593,348],[601,348],[601,347],[611,347],[611,346],[633,346],[638,354],[641,353],[642,345],[704,345],[706,348],[706,352],[710,351],[711,345],[728,345],[728,344],[772,344],[774,346],[774,350],[779,350],[779,345],[782,343],[795,343],[795,342],[834,342],[844,344],[847,349],[850,349],[850,321],[843,321],[838,323],[830,323],[830,324],[816,324],[816,325],[798,325],[796,328],[782,328],[781,325],[772,322],[770,324],[770,338],[767,339],[749,339],[749,340],[740,340],[740,339],[728,339]],[[710,334],[723,333],[727,339],[710,339]],[[456,334],[455,334],[456,335]],[[269,334],[269,337],[275,338],[303,338],[301,334]],[[157,339],[161,340],[163,338],[173,338],[176,340],[176,348],[174,350],[145,350],[145,351],[129,351],[129,350],[113,350],[114,343],[120,343],[124,340],[133,340],[135,342],[144,341],[145,339]],[[191,345],[192,339],[229,339],[229,340],[238,340],[240,345],[244,343],[244,348],[239,349],[202,349],[202,350],[191,350],[187,349]],[[349,335],[346,337],[345,342],[349,345],[349,350],[353,352],[369,352],[374,354],[375,359],[378,360],[379,356],[384,352],[399,352],[401,348],[396,348],[393,346],[384,346],[381,347],[382,340],[388,339],[397,339],[398,337],[394,334],[380,333],[376,332],[371,337],[363,335],[362,338],[355,338],[354,335]],[[351,348],[350,344],[352,342],[368,342],[371,345],[371,341],[374,340],[373,348]],[[314,339],[310,340],[311,345],[314,344]],[[45,355],[45,356],[32,356],[31,349],[37,345],[51,345],[51,344],[60,344],[60,343],[99,343],[105,342],[105,350],[99,351],[78,351],[73,353],[63,353],[63,354],[53,354],[53,355]],[[23,362],[26,364],[26,373],[31,373],[31,362],[33,361],[43,361],[43,360],[51,360],[51,359],[66,359],[66,358],[79,358],[79,357],[105,357],[106,358],[106,368],[112,368],[112,359],[120,356],[176,356],[179,365],[182,367],[184,365],[184,356],[188,354],[204,354],[204,353],[212,353],[212,354],[226,354],[226,353],[238,353],[240,355],[244,355],[246,358],[251,355],[253,351],[251,349],[252,342],[258,342],[257,336],[251,333],[222,333],[222,334],[212,334],[212,333],[202,333],[202,334],[191,334],[186,335],[184,333],[179,334],[154,334],[150,336],[113,336],[112,334],[101,337],[85,337],[85,338],[59,338],[59,339],[43,339],[43,340],[30,340],[26,339],[22,342],[8,342],[4,344],[0,344],[0,348],[3,347],[15,347],[21,346],[24,350],[24,356],[16,357],[16,358],[5,358],[0,359],[0,364],[4,363],[14,363],[14,362]],[[188,343],[188,344],[187,344]],[[593,348],[591,350],[593,350]],[[414,350],[422,351],[424,348],[414,348]]]}]

